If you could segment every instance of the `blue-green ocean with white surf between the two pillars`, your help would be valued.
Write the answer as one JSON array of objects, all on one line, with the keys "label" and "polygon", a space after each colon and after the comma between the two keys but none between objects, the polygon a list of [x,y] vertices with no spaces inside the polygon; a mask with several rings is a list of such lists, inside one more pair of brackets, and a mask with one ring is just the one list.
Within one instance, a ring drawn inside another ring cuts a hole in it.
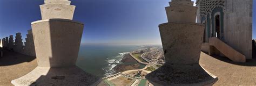
[{"label": "blue-green ocean with white surf between the two pillars", "polygon": [[143,49],[132,45],[82,45],[79,49],[77,66],[87,73],[105,77],[114,73],[125,54]]}]

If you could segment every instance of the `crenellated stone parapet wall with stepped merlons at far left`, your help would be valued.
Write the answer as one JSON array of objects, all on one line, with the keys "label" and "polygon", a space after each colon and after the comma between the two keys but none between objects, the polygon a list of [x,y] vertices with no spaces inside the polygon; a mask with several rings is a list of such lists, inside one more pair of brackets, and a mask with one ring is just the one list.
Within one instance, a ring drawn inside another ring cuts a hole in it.
[{"label": "crenellated stone parapet wall with stepped merlons at far left", "polygon": [[4,49],[9,49],[10,51],[14,51],[24,55],[36,56],[32,30],[28,30],[28,34],[26,34],[26,42],[24,42],[25,45],[23,45],[21,33],[16,33],[15,41],[13,35],[10,35],[9,39],[8,37],[6,37],[2,40]]}]

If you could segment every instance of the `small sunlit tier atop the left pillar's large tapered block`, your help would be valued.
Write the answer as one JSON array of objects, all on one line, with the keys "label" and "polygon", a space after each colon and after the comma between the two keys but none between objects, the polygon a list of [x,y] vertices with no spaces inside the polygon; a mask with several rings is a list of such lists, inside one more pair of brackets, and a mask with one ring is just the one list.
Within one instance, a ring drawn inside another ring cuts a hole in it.
[{"label": "small sunlit tier atop the left pillar's large tapered block", "polygon": [[73,19],[75,5],[68,4],[44,4],[40,5],[42,20],[44,19]]}]

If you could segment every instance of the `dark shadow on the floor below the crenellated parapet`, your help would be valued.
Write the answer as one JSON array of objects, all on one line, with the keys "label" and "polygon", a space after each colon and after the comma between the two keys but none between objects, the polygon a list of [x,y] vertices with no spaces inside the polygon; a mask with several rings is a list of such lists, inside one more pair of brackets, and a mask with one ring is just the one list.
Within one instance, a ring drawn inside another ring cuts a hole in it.
[{"label": "dark shadow on the floor below the crenellated parapet", "polygon": [[0,66],[10,66],[14,64],[23,63],[23,62],[31,62],[35,59],[36,57],[34,56],[23,55],[20,53],[11,52],[4,49],[3,57],[0,58]]}]

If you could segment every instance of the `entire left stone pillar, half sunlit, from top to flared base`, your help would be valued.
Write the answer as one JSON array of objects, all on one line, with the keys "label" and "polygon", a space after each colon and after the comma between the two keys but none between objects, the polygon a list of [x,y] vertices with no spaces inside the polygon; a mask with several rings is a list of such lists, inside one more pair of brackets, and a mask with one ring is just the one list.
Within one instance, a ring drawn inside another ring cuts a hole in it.
[{"label": "entire left stone pillar, half sunlit, from top to flared base", "polygon": [[31,23],[37,64],[14,85],[96,85],[100,78],[76,66],[84,24],[73,21],[75,6],[68,0],[45,0],[42,20]]}]

